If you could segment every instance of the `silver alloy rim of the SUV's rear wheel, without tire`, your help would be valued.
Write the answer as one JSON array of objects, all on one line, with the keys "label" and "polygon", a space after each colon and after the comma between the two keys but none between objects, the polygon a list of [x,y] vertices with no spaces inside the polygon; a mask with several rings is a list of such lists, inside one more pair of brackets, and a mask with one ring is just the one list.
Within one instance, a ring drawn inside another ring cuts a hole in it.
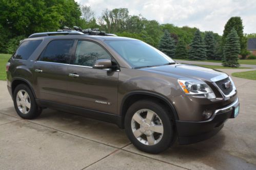
[{"label": "silver alloy rim of the SUV's rear wheel, without tire", "polygon": [[21,111],[23,114],[27,114],[31,107],[28,92],[25,90],[19,90],[16,95],[16,103],[18,110]]}]

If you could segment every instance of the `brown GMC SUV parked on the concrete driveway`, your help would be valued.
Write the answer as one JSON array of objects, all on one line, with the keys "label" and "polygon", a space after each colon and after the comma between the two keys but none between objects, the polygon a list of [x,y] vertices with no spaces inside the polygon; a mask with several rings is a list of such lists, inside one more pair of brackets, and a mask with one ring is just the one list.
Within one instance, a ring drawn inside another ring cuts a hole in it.
[{"label": "brown GMC SUV parked on the concrete driveway", "polygon": [[239,113],[225,73],[176,63],[140,40],[113,35],[33,34],[7,63],[7,82],[22,118],[52,108],[100,119],[125,128],[148,153],[166,150],[176,138],[181,144],[207,139]]}]

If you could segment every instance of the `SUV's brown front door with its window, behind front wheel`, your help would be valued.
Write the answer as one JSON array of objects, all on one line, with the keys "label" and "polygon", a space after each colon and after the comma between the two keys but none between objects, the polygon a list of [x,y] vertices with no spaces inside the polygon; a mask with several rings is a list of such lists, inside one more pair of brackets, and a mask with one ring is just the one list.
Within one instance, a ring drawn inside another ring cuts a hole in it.
[{"label": "SUV's brown front door with its window, behind front wheel", "polygon": [[92,68],[97,59],[111,56],[99,44],[78,40],[68,66],[69,104],[96,111],[116,113],[119,71]]}]

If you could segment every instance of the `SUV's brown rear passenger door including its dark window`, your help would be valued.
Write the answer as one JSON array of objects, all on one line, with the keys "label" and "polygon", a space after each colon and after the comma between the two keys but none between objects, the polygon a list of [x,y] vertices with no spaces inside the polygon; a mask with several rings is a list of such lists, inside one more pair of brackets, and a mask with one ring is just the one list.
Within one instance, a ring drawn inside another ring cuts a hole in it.
[{"label": "SUV's brown rear passenger door including its dark window", "polygon": [[74,40],[52,40],[34,64],[38,99],[66,104],[67,70]]}]

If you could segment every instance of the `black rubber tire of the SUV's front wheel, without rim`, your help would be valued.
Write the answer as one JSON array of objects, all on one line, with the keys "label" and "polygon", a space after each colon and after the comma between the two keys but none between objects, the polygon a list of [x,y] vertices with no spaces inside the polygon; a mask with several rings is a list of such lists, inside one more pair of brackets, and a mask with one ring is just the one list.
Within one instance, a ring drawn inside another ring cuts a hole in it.
[{"label": "black rubber tire of the SUV's front wheel, without rim", "polygon": [[[137,111],[142,109],[149,109],[153,111],[161,119],[163,134],[161,140],[156,144],[144,144],[139,141],[139,139],[137,139],[133,134],[132,117]],[[128,138],[137,149],[147,153],[157,154],[167,150],[174,143],[176,139],[176,134],[173,126],[173,118],[172,113],[168,112],[168,109],[164,105],[151,100],[137,101],[129,107],[125,115],[125,131]]]}]

